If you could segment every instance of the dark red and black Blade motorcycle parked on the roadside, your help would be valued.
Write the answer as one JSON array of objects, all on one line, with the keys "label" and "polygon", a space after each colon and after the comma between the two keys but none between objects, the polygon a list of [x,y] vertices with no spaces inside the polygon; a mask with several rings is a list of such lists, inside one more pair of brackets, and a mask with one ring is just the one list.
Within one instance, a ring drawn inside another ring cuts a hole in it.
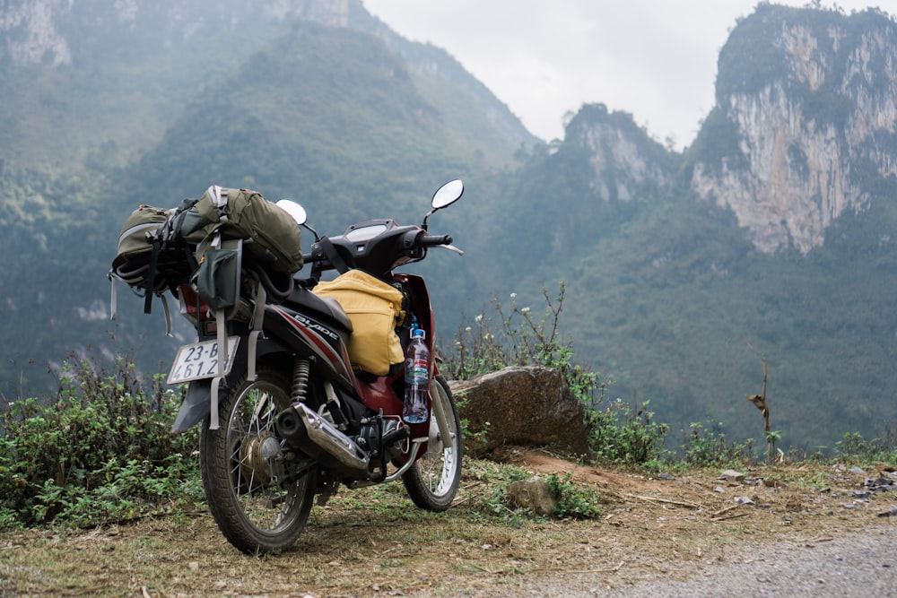
[{"label": "dark red and black Blade motorcycle parked on the roadside", "polygon": [[[395,269],[421,261],[434,247],[463,255],[450,236],[432,235],[427,223],[463,192],[457,179],[441,186],[420,226],[366,221],[329,238],[309,227],[300,204],[281,200],[277,204],[297,226],[314,234],[311,251],[302,256],[309,277],[290,275],[284,290],[266,273],[244,270],[239,301],[226,313],[205,305],[195,284],[178,286],[181,314],[198,340],[182,346],[171,366],[169,383],[187,384],[173,431],[202,425],[205,497],[237,549],[289,548],[315,498],[323,505],[340,486],[401,479],[417,507],[443,511],[451,505],[464,452],[457,406],[435,359],[427,285]],[[347,343],[357,331],[351,319],[337,302],[314,292],[323,273],[352,267],[401,291],[409,322],[396,329],[403,346],[414,327],[425,332],[429,417],[422,423],[401,416],[404,368],[386,375],[353,368]]]}]

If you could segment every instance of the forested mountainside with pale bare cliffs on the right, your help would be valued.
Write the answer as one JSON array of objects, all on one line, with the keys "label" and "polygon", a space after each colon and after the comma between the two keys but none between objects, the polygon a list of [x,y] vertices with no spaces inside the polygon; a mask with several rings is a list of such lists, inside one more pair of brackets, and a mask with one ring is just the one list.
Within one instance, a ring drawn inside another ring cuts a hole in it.
[{"label": "forested mountainside with pale bare cliffs on the right", "polygon": [[[521,170],[514,196],[543,206],[544,230],[518,230],[535,239],[520,286],[568,282],[570,336],[614,379],[608,398],[649,401],[678,440],[724,422],[762,444],[745,395],[765,360],[786,443],[893,434],[895,35],[875,10],[761,4],[682,156],[587,106]],[[534,179],[553,193],[527,195]]]}]

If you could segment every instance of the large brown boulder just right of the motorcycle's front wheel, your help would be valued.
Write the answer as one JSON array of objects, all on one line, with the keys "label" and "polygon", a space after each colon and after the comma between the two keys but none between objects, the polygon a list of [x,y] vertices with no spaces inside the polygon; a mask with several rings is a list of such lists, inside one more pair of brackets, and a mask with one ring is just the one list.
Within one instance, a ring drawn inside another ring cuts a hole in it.
[{"label": "large brown boulder just right of the motorcycle's front wheel", "polygon": [[502,445],[552,445],[592,456],[585,408],[558,370],[504,368],[450,386],[473,435],[465,438],[469,455],[483,456]]}]

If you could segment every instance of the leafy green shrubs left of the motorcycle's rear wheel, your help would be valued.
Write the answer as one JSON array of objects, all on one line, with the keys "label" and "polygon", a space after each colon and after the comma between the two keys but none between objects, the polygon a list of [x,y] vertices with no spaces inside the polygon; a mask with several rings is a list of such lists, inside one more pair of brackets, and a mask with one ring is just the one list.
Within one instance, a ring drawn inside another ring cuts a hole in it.
[{"label": "leafy green shrubs left of the motorcycle's rear wheel", "polygon": [[55,397],[0,413],[0,526],[122,521],[176,500],[201,500],[196,431],[174,436],[178,394],[118,357],[111,373],[71,357]]}]

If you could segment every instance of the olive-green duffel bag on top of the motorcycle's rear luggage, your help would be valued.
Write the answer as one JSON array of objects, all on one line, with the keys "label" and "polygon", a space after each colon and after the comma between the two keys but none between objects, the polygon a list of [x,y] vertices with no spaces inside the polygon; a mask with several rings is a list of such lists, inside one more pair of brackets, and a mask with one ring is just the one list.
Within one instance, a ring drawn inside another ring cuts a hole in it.
[{"label": "olive-green duffel bag on top of the motorcycle's rear luggage", "polygon": [[302,267],[299,225],[256,191],[213,185],[199,199],[179,205],[176,236],[198,244],[216,231],[222,240],[244,239],[246,252],[276,272],[295,273]]}]

